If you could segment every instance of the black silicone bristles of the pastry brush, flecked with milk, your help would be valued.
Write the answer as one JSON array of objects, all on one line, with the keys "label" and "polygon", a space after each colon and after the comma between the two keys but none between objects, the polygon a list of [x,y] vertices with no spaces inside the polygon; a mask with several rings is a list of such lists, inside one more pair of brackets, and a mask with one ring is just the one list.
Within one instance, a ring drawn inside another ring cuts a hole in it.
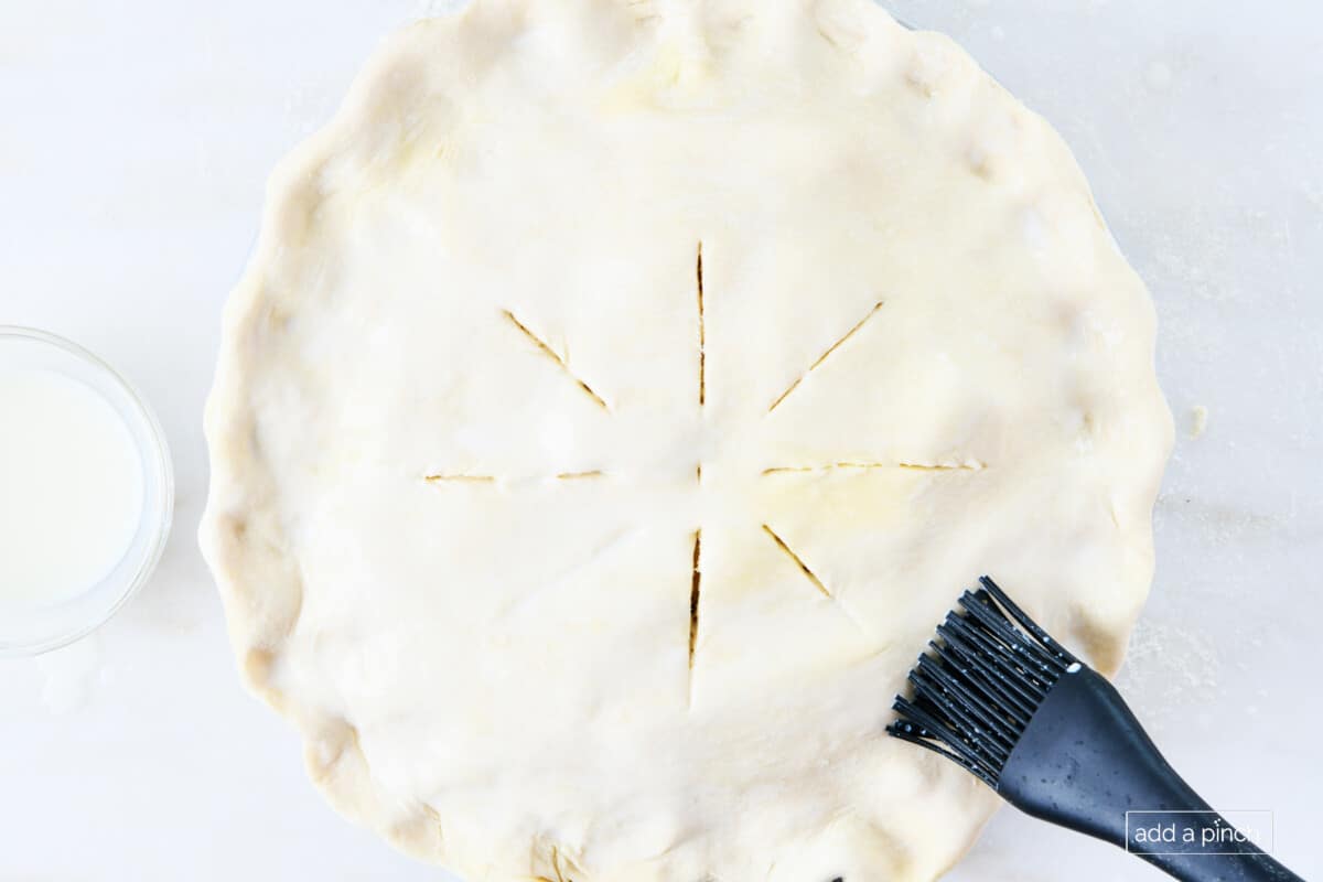
[{"label": "black silicone bristles of the pastry brush, flecked with milk", "polygon": [[992,579],[966,591],[960,611],[909,673],[914,697],[896,697],[896,738],[951,759],[996,788],[1033,711],[1078,660],[1061,648]]}]

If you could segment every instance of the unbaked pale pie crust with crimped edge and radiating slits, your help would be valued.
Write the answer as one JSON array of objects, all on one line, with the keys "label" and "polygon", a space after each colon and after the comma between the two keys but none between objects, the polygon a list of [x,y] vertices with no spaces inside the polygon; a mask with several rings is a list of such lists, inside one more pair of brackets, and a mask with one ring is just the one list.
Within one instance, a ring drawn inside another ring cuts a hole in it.
[{"label": "unbaked pale pie crust with crimped edge and radiating slits", "polygon": [[274,179],[208,407],[249,684],[472,882],[931,879],[991,571],[1103,670],[1171,443],[1061,139],[867,0],[480,0]]}]

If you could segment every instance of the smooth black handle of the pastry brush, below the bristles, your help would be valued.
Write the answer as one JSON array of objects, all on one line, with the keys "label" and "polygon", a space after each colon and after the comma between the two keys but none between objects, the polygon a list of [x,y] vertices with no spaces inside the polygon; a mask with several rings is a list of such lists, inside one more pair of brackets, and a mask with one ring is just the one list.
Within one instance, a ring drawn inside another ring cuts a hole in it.
[{"label": "smooth black handle of the pastry brush, below the bristles", "polygon": [[[1102,676],[1080,665],[1039,705],[996,785],[1008,803],[1060,826],[1126,848],[1126,812],[1199,812],[1180,829],[1221,838],[1230,825],[1181,780]],[[1140,854],[1184,882],[1303,882],[1248,841],[1221,854]]]}]

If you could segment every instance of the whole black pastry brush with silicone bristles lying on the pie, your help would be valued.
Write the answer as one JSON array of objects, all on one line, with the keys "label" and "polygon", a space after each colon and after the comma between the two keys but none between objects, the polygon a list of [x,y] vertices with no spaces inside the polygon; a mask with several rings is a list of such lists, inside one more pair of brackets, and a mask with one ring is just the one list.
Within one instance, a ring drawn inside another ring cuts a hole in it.
[{"label": "whole black pastry brush with silicone bristles lying on the pie", "polygon": [[[1181,780],[1110,682],[992,579],[980,583],[938,625],[886,731],[955,762],[1021,812],[1184,882],[1301,882]],[[1167,838],[1143,833],[1164,826]]]}]

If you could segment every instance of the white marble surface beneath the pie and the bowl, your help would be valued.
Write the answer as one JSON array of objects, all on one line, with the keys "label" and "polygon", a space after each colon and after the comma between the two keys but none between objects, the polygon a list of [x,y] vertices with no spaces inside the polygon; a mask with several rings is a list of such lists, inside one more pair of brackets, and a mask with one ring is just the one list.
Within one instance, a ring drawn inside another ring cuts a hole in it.
[{"label": "white marble surface beneath the pie and the bowl", "polygon": [[[0,0],[0,324],[120,366],[179,471],[152,584],[95,641],[0,664],[3,882],[438,878],[306,783],[294,735],[239,689],[193,537],[218,313],[263,179],[427,5]],[[1278,854],[1323,875],[1323,8],[894,8],[1057,124],[1152,287],[1180,439],[1122,685],[1211,801],[1273,809]],[[950,878],[1159,877],[1003,812]]]}]

